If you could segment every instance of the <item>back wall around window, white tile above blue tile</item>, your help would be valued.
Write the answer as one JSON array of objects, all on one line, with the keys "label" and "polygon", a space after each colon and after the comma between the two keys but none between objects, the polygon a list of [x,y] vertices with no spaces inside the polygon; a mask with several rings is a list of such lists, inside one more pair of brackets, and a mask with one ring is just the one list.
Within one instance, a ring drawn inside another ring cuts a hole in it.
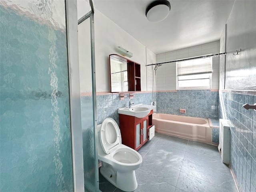
[{"label": "back wall around window, white tile above blue tile", "polygon": [[[216,54],[219,41],[156,55],[157,63]],[[212,58],[212,90],[176,90],[176,62],[163,64],[156,70],[158,88],[157,112],[200,118],[218,118],[219,57]],[[155,87],[155,86],[154,86]],[[179,109],[186,109],[180,113]]]}]

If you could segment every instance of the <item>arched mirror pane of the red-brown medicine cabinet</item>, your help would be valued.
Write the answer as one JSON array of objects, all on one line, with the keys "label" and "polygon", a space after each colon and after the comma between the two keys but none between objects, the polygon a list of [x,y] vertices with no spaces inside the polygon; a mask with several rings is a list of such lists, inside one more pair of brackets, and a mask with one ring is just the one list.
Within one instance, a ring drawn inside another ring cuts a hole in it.
[{"label": "arched mirror pane of the red-brown medicine cabinet", "polygon": [[127,61],[110,56],[111,92],[128,91]]}]

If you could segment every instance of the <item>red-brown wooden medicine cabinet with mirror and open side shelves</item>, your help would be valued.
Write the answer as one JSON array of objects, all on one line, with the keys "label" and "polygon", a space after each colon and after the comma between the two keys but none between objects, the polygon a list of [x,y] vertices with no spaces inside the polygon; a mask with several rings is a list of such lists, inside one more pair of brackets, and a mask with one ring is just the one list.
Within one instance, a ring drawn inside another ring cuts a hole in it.
[{"label": "red-brown wooden medicine cabinet with mirror and open side shelves", "polygon": [[140,87],[140,64],[122,56],[109,55],[111,92],[136,92]]}]

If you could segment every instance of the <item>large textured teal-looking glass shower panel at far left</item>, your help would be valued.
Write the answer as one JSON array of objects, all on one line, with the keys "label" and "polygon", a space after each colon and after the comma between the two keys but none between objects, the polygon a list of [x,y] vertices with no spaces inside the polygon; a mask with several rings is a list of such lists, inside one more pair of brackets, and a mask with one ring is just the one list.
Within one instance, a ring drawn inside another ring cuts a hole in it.
[{"label": "large textured teal-looking glass shower panel at far left", "polygon": [[65,2],[17,2],[0,6],[0,191],[71,192]]}]

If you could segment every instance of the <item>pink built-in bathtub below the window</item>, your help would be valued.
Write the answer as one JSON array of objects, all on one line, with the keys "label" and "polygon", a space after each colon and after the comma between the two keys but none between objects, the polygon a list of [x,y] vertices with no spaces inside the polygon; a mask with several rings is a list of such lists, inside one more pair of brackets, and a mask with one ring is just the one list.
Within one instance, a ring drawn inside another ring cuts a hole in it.
[{"label": "pink built-in bathtub below the window", "polygon": [[215,144],[212,142],[212,128],[208,119],[154,114],[152,124],[155,125],[155,131],[160,134]]}]

